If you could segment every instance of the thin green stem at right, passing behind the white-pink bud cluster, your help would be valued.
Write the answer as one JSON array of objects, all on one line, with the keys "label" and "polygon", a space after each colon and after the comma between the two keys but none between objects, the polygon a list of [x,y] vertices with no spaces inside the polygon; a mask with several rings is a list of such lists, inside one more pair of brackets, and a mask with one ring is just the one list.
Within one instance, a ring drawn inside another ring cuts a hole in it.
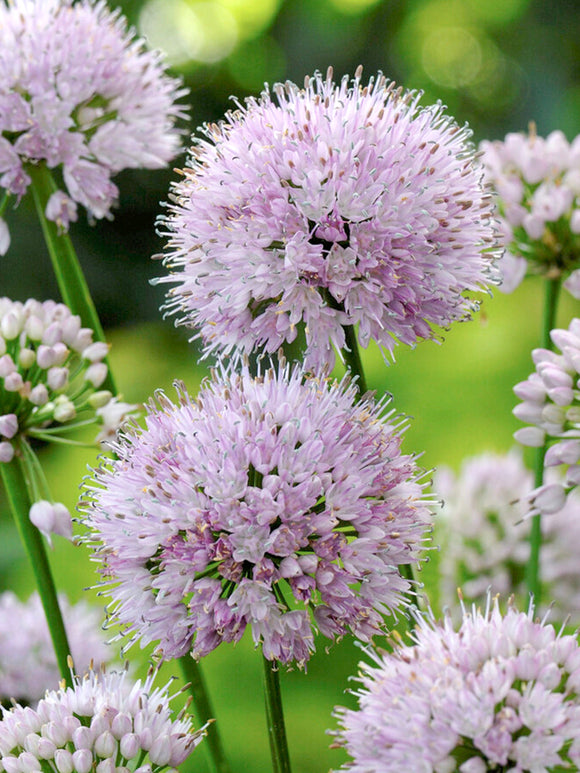
[{"label": "thin green stem at right, passing behind the white-pink bud cluster", "polygon": [[[556,324],[556,310],[558,308],[558,297],[560,295],[560,279],[547,279],[544,296],[544,318],[542,320],[542,339],[541,347],[543,349],[553,350],[554,345],[550,338],[550,331]],[[544,457],[548,450],[547,443],[536,450],[534,461],[534,486],[538,488],[544,482]],[[534,597],[536,608],[541,601],[541,582],[540,582],[540,548],[542,545],[542,516],[534,515],[530,529],[530,557],[526,565],[525,580],[528,592]]]}]

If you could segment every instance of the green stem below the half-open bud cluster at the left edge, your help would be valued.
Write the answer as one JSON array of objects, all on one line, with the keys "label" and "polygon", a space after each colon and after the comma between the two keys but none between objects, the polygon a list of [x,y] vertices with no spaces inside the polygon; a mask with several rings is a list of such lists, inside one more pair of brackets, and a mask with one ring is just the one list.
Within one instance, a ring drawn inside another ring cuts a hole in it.
[{"label": "green stem below the half-open bud cluster at the left edge", "polygon": [[72,686],[68,664],[70,647],[44,542],[40,532],[29,518],[31,503],[21,458],[15,456],[11,462],[0,464],[0,472],[12,515],[36,577],[60,675],[68,686]]}]

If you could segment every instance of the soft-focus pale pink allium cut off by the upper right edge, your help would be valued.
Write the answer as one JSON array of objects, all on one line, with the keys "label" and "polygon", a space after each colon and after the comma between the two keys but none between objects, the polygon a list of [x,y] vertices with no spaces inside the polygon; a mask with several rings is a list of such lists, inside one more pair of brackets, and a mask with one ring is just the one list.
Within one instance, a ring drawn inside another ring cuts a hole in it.
[{"label": "soft-focus pale pink allium cut off by the upper right edge", "polygon": [[500,289],[512,292],[530,270],[565,278],[580,298],[580,136],[571,144],[561,131],[543,139],[532,125],[529,135],[480,147],[507,248]]}]

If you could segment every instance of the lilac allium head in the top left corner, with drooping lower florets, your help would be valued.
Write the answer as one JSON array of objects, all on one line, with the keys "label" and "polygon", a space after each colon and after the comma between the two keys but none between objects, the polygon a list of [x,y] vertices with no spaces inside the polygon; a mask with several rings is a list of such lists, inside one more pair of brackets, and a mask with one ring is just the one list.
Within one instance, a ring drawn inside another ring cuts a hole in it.
[{"label": "lilac allium head in the top left corner, with drooping lower florets", "polygon": [[179,149],[179,82],[102,0],[0,2],[0,83],[0,187],[20,197],[29,164],[59,168],[46,215],[63,228],[77,203],[109,214],[121,169]]}]

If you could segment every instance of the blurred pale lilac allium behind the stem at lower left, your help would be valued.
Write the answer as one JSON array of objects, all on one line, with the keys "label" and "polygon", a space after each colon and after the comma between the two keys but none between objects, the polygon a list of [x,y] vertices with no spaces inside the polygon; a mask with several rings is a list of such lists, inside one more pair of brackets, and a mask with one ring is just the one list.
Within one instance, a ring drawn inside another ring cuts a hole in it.
[{"label": "blurred pale lilac allium behind the stem at lower left", "polygon": [[[71,654],[79,673],[91,662],[106,663],[113,651],[105,643],[101,610],[84,602],[70,604],[59,596]],[[37,593],[26,602],[13,593],[0,594],[0,701],[14,698],[34,704],[58,686],[60,674]]]}]

